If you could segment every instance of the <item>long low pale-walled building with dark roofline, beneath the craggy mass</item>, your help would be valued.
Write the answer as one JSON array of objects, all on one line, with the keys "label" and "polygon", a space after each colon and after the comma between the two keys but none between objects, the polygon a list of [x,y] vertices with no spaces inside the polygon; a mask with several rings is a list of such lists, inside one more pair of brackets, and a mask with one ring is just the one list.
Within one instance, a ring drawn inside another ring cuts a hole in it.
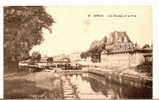
[{"label": "long low pale-walled building with dark roofline, beneath the craggy mass", "polygon": [[105,66],[135,67],[145,62],[152,62],[152,49],[140,49],[133,43],[106,46],[101,53],[101,63]]}]

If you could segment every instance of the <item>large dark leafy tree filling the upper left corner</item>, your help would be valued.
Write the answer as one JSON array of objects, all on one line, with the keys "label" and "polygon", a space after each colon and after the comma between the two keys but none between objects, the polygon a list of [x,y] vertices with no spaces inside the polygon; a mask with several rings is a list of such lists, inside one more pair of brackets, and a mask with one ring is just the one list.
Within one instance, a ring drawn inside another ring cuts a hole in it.
[{"label": "large dark leafy tree filling the upper left corner", "polygon": [[42,29],[50,30],[53,22],[42,6],[4,7],[5,67],[16,68],[19,61],[28,59],[32,47],[43,41]]}]

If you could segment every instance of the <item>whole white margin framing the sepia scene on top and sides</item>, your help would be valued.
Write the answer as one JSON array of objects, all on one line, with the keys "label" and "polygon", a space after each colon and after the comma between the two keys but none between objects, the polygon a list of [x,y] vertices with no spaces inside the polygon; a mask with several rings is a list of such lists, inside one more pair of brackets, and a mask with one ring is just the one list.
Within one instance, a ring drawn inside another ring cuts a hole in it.
[{"label": "whole white margin framing the sepia scene on top and sides", "polygon": [[3,9],[2,6],[34,5],[150,5],[153,7],[153,98],[159,99],[159,0],[0,0],[0,98],[3,98]]}]

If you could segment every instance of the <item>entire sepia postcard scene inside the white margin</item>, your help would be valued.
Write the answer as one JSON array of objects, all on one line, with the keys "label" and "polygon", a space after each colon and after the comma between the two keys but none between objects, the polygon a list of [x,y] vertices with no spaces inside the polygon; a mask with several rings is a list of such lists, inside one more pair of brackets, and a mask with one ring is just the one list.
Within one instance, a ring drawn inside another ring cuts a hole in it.
[{"label": "entire sepia postcard scene inside the white margin", "polygon": [[4,6],[4,99],[152,99],[151,6]]}]

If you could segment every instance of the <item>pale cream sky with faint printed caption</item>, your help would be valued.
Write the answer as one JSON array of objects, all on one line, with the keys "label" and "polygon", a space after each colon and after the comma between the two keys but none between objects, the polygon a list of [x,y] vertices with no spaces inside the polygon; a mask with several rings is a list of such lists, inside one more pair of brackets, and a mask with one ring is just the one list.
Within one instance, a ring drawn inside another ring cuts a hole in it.
[{"label": "pale cream sky with faint printed caption", "polygon": [[113,31],[126,31],[139,45],[152,44],[150,6],[48,6],[46,11],[55,20],[53,32],[43,29],[44,41],[30,53],[54,56],[86,51],[92,41]]}]

